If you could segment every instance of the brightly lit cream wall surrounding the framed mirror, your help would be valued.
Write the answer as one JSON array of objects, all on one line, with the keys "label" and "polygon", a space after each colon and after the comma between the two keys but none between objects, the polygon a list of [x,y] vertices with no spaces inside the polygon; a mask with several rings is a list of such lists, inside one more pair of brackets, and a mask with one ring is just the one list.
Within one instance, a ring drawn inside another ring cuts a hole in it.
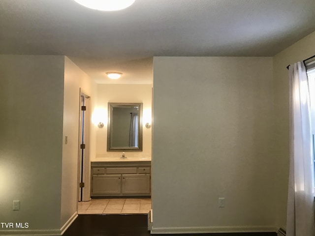
[{"label": "brightly lit cream wall surrounding the framed mirror", "polygon": [[92,122],[97,127],[103,122],[103,128],[96,130],[96,154],[93,159],[104,157],[121,157],[122,152],[107,151],[107,106],[108,102],[143,103],[143,149],[141,152],[126,152],[126,156],[151,157],[152,128],[146,128],[146,122],[152,119],[152,85],[97,85],[97,103],[92,114]]}]

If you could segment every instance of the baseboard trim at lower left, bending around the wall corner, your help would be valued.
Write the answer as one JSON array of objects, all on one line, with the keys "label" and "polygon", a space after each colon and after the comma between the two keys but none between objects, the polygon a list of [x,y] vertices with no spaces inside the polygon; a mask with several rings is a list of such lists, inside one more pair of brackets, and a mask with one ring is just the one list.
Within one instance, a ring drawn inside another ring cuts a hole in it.
[{"label": "baseboard trim at lower left, bending around the wall corner", "polygon": [[60,230],[0,230],[2,236],[62,236],[63,233],[69,228],[72,222],[78,217],[76,211],[68,220],[65,222]]}]

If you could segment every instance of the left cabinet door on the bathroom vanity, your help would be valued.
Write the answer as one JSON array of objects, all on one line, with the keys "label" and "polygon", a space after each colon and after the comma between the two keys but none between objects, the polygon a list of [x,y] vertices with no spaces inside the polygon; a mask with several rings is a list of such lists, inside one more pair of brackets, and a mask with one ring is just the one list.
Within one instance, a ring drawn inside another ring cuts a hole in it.
[{"label": "left cabinet door on the bathroom vanity", "polygon": [[93,194],[121,193],[121,175],[93,175]]}]

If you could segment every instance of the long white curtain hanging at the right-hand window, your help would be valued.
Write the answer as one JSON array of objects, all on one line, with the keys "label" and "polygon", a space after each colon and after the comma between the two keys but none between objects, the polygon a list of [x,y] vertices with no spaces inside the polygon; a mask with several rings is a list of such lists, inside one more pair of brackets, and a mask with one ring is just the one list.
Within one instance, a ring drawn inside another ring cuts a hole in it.
[{"label": "long white curtain hanging at the right-hand window", "polygon": [[287,236],[315,236],[310,96],[303,62],[289,67],[290,170]]}]

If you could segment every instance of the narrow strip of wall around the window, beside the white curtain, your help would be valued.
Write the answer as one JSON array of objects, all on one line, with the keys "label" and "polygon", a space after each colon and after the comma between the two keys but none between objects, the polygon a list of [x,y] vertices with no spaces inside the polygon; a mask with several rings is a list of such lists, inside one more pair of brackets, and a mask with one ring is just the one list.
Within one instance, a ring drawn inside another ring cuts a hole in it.
[{"label": "narrow strip of wall around the window, beside the white curtain", "polygon": [[315,32],[274,57],[275,90],[275,177],[278,226],[286,226],[286,201],[289,170],[289,83],[286,66],[315,55]]}]

